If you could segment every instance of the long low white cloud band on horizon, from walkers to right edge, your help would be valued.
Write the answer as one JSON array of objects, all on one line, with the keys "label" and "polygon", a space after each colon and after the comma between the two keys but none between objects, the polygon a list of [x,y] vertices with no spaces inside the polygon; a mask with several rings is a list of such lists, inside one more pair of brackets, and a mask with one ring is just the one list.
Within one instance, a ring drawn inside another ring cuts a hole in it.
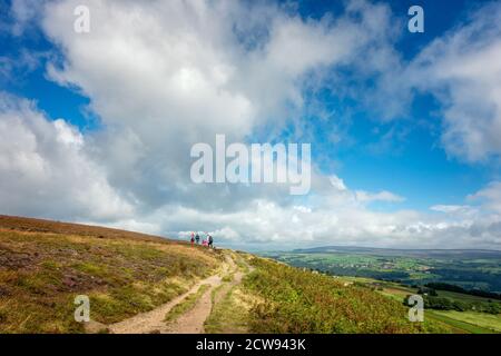
[{"label": "long low white cloud band on horizon, from walkers to right edge", "polygon": [[492,248],[501,243],[499,215],[375,212],[351,197],[326,196],[322,206],[313,200],[281,206],[256,199],[248,201],[246,209],[224,212],[164,207],[145,219],[158,224],[163,231],[185,231],[180,237],[193,230],[209,231],[216,244],[255,249],[305,245]]}]

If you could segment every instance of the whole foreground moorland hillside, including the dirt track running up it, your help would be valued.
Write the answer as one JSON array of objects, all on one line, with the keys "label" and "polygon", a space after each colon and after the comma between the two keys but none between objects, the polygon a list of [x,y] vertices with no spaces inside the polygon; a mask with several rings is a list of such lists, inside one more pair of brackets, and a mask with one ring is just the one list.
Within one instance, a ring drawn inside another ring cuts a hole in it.
[{"label": "whole foreground moorland hillside, including the dirt track running up it", "polygon": [[[90,299],[90,323],[73,318]],[[370,288],[249,254],[0,216],[0,333],[422,333]]]}]

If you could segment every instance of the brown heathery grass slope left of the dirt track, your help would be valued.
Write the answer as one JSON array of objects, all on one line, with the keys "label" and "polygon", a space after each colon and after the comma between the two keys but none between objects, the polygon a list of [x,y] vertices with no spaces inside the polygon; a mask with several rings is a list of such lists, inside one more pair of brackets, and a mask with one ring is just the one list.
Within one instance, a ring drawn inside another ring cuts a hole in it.
[{"label": "brown heathery grass slope left of the dirt track", "polygon": [[79,333],[77,295],[109,324],[150,310],[220,265],[207,249],[116,229],[0,216],[0,333]]}]

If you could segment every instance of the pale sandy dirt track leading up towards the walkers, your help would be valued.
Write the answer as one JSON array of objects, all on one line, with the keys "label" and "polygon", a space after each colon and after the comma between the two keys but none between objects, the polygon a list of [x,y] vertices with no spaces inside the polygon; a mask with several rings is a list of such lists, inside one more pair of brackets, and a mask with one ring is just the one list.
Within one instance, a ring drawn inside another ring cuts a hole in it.
[{"label": "pale sandy dirt track leading up towards the walkers", "polygon": [[[227,256],[226,264],[223,267],[223,277],[237,270],[233,258]],[[242,279],[243,274],[236,273],[234,280]],[[108,325],[108,329],[112,334],[198,334],[204,333],[204,322],[210,315],[212,310],[212,291],[223,283],[220,275],[214,275],[206,279],[199,280],[187,293],[174,298],[167,304],[159,306],[158,308],[138,314],[126,320]],[[167,313],[176,305],[181,303],[188,295],[198,290],[202,285],[209,285],[209,288],[196,301],[195,307],[178,317],[171,323],[166,323],[165,317]]]}]

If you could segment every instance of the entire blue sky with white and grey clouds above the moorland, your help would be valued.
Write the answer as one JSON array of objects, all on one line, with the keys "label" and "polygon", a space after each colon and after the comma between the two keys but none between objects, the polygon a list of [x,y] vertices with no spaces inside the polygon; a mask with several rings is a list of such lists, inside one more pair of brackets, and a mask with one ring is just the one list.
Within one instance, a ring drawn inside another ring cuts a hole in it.
[{"label": "entire blue sky with white and grey clouds above the moorland", "polygon": [[[311,144],[310,192],[195,184],[190,148],[218,134]],[[0,214],[247,250],[501,249],[500,155],[499,1],[0,0]]]}]

